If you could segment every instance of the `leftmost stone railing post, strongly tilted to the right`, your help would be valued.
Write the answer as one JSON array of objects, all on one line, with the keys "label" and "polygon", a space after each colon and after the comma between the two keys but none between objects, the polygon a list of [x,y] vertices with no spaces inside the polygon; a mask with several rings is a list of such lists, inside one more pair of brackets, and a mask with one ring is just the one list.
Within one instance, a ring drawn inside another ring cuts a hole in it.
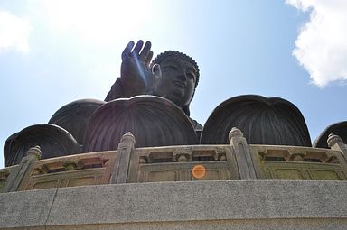
[{"label": "leftmost stone railing post, strongly tilted to the right", "polygon": [[5,183],[5,192],[16,191],[19,188],[24,176],[30,172],[33,163],[41,159],[41,155],[42,152],[38,145],[26,152],[26,156],[22,158],[18,167],[8,176]]}]

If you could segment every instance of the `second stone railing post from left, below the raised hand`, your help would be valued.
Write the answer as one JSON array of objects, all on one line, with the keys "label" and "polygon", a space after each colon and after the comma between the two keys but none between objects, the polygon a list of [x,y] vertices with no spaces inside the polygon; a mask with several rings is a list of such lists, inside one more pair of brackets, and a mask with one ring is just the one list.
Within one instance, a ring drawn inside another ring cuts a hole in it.
[{"label": "second stone railing post from left, below the raised hand", "polygon": [[120,139],[118,144],[115,168],[113,170],[111,183],[120,184],[127,182],[127,173],[129,170],[130,156],[135,150],[135,137],[127,132]]}]

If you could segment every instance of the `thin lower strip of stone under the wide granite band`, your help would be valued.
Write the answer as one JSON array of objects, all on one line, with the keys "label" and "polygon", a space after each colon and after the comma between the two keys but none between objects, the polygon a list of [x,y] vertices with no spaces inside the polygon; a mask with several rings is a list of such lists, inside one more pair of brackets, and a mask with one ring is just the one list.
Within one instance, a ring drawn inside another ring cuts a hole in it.
[{"label": "thin lower strip of stone under the wide granite band", "polygon": [[[45,230],[345,230],[346,219],[257,219],[49,226]],[[33,229],[36,230],[36,229]]]}]

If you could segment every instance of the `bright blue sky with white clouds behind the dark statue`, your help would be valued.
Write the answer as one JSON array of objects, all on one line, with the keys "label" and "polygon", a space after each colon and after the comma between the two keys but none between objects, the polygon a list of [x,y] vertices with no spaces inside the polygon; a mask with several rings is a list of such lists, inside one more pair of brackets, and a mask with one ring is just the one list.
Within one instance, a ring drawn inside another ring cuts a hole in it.
[{"label": "bright blue sky with white clouds behind the dark statue", "polygon": [[[343,0],[0,0],[0,143],[61,106],[104,99],[128,41],[183,51],[200,66],[192,118],[224,100],[283,97],[314,139],[345,121],[347,4]],[[2,155],[2,154],[1,154]],[[4,166],[0,157],[0,167]]]}]

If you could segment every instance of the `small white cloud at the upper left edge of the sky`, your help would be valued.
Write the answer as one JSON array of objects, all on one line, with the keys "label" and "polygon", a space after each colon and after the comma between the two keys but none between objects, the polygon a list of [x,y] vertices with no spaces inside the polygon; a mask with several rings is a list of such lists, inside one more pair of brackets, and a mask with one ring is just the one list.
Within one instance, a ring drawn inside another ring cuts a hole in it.
[{"label": "small white cloud at the upper left edge of the sky", "polygon": [[28,52],[31,24],[6,11],[0,11],[0,51],[15,49]]}]

